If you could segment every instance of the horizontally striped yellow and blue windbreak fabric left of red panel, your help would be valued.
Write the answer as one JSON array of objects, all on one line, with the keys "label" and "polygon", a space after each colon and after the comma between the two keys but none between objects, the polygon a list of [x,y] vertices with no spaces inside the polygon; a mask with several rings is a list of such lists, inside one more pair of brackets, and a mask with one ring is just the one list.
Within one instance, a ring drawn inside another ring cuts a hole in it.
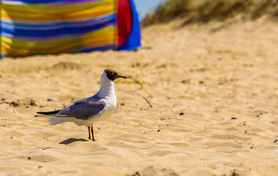
[{"label": "horizontally striped yellow and blue windbreak fabric left of red panel", "polygon": [[1,0],[1,55],[117,49],[117,0]]}]

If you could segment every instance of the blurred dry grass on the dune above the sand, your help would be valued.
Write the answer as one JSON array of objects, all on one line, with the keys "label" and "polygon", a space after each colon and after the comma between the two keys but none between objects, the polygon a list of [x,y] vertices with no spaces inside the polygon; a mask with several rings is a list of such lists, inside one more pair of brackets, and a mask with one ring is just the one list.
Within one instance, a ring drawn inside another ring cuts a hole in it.
[{"label": "blurred dry grass on the dune above the sand", "polygon": [[142,26],[165,23],[181,18],[183,24],[208,22],[242,15],[243,19],[256,19],[262,15],[278,16],[277,0],[168,0],[161,3],[153,14],[148,14]]}]

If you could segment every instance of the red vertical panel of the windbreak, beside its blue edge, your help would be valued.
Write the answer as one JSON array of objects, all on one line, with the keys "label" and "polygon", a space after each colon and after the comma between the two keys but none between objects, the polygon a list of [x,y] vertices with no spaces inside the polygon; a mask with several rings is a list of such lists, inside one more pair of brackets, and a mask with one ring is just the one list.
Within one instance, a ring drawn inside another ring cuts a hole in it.
[{"label": "red vertical panel of the windbreak, beside its blue edge", "polygon": [[129,0],[117,1],[117,46],[120,47],[129,38],[132,30],[132,11]]}]

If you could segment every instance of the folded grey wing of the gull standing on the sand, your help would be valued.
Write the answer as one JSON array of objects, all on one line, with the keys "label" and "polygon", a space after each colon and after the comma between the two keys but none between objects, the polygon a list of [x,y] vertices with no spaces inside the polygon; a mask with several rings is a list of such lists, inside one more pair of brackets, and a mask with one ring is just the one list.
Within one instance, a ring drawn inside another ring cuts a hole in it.
[{"label": "folded grey wing of the gull standing on the sand", "polygon": [[74,104],[57,113],[58,116],[72,116],[82,120],[88,120],[90,117],[99,114],[104,109],[104,104]]}]

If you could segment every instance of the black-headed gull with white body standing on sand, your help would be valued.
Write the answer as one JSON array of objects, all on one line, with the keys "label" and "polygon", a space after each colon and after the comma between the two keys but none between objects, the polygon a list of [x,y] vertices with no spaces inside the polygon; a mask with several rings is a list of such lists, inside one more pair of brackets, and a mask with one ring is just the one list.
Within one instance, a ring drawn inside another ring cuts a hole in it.
[{"label": "black-headed gull with white body standing on sand", "polygon": [[[72,105],[64,109],[52,112],[37,112],[47,116],[54,116],[49,119],[49,125],[57,125],[64,122],[73,122],[76,125],[88,127],[89,137],[95,141],[93,124],[100,119],[103,120],[112,114],[117,107],[117,98],[113,80],[124,78],[113,69],[105,69],[101,74],[101,86],[94,96],[76,100]],[[91,138],[92,133],[92,138]]]}]

